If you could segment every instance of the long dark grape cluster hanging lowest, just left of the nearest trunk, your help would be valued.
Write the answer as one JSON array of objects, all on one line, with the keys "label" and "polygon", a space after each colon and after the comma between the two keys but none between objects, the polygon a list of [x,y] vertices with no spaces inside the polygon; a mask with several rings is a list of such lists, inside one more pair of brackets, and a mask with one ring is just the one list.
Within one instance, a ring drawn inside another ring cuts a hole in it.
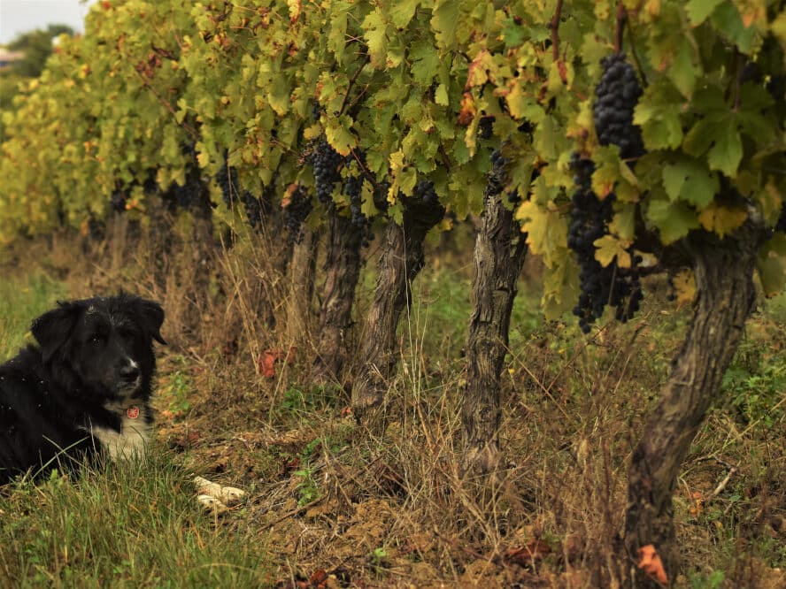
[{"label": "long dark grape cluster hanging lowest, just left of the nearest trunk", "polygon": [[616,307],[615,316],[625,323],[639,310],[643,299],[641,281],[636,264],[640,256],[634,256],[631,268],[620,268],[616,261],[605,268],[595,259],[594,242],[606,233],[606,224],[613,214],[613,194],[604,200],[597,198],[592,190],[592,160],[574,153],[571,158],[576,190],[573,195],[571,225],[567,235],[567,246],[576,255],[581,272],[579,282],[581,294],[574,307],[583,333],[590,332],[590,325],[603,315],[606,305]]}]

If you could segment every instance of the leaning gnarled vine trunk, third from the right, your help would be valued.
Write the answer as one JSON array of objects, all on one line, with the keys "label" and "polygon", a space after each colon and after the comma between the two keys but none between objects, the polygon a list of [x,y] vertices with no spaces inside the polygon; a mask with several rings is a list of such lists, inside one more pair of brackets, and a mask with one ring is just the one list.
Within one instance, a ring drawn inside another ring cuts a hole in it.
[{"label": "leaning gnarled vine trunk, third from the right", "polygon": [[375,434],[385,428],[388,380],[397,364],[398,320],[412,301],[412,280],[424,264],[423,241],[443,215],[440,206],[407,199],[402,225],[391,219],[385,231],[374,302],[360,352],[362,364],[352,386],[355,418]]}]

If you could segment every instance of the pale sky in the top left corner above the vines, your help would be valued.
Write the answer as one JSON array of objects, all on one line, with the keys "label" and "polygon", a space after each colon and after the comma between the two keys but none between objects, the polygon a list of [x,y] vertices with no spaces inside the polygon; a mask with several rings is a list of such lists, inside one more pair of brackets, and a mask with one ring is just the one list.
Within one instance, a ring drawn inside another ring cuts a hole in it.
[{"label": "pale sky in the top left corner above the vines", "polygon": [[18,34],[48,25],[68,25],[84,30],[85,15],[95,0],[0,0],[0,44]]}]

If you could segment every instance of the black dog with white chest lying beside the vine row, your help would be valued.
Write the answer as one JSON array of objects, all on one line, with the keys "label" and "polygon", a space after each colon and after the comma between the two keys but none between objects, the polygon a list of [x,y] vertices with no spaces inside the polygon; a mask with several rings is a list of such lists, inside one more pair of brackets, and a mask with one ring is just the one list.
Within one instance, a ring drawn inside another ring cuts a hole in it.
[{"label": "black dog with white chest lying beside the vine row", "polygon": [[124,294],[59,302],[35,319],[40,347],[0,366],[0,484],[30,469],[142,453],[163,322],[157,302]]}]

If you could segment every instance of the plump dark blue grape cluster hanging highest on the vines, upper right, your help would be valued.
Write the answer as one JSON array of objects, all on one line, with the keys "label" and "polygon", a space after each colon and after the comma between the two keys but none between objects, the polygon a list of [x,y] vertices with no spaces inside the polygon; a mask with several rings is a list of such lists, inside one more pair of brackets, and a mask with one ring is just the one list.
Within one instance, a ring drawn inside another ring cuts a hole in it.
[{"label": "plump dark blue grape cluster hanging highest on the vines, upper right", "polygon": [[644,153],[641,130],[633,125],[642,88],[636,70],[625,61],[624,53],[614,53],[601,60],[603,75],[595,88],[593,106],[595,130],[601,145],[616,145],[620,157],[630,159]]}]

